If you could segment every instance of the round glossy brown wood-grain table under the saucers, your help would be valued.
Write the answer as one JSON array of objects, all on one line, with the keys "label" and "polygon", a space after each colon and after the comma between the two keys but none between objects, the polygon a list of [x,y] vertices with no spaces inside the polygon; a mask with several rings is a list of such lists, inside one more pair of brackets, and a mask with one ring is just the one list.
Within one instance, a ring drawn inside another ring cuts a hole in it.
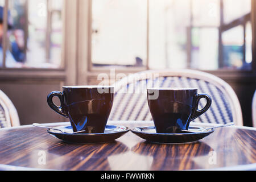
[{"label": "round glossy brown wood-grain table under the saucers", "polygon": [[[146,121],[108,124],[154,126]],[[52,137],[46,129],[27,125],[0,129],[0,169],[255,170],[255,138],[254,128],[230,126],[215,129],[213,134],[193,144],[152,144],[131,132],[105,144],[69,144]]]}]

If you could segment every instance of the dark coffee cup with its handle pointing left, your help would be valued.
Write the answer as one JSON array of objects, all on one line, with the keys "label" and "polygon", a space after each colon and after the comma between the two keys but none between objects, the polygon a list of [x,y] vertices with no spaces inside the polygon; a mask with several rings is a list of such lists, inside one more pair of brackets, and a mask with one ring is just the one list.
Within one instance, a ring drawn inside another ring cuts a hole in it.
[{"label": "dark coffee cup with its handle pointing left", "polygon": [[[60,106],[52,98],[59,97]],[[112,86],[63,86],[63,92],[52,92],[48,105],[57,113],[69,118],[73,131],[104,133],[112,109],[114,88]]]}]

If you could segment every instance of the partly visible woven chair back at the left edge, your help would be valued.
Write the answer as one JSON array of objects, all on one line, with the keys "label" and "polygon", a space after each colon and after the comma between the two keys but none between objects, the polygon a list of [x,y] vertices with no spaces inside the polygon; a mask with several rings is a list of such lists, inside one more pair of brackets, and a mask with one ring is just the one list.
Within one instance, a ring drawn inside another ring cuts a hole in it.
[{"label": "partly visible woven chair back at the left edge", "polygon": [[0,90],[0,128],[19,125],[19,116],[13,102]]}]

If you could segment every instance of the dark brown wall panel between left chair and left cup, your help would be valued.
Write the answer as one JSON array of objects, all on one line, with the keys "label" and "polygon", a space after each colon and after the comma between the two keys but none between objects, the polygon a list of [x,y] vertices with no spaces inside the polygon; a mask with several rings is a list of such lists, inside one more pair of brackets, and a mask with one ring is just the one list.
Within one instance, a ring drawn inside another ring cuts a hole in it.
[{"label": "dark brown wall panel between left chair and left cup", "polygon": [[[60,82],[18,83],[0,82],[0,89],[9,96],[19,114],[20,124],[63,122],[64,118],[47,104],[48,93],[60,90]],[[57,104],[57,101],[56,101]]]}]

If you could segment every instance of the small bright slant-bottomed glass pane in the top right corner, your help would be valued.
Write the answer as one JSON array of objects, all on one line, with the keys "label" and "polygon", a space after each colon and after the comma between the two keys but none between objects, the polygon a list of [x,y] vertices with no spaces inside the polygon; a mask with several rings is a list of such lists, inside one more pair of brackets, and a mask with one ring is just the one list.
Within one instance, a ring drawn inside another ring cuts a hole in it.
[{"label": "small bright slant-bottomed glass pane in the top right corner", "polygon": [[223,0],[224,23],[230,23],[250,13],[251,0]]}]

